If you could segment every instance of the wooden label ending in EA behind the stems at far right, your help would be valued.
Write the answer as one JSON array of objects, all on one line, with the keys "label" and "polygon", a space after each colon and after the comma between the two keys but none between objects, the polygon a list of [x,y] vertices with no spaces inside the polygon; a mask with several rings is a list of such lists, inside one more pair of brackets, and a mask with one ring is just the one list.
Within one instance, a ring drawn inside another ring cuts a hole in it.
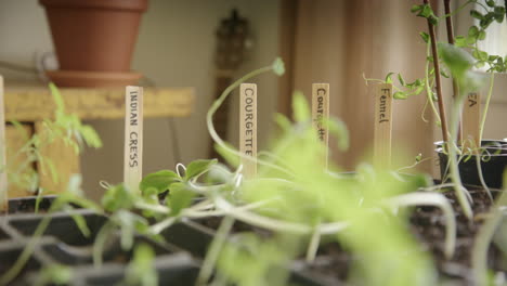
[{"label": "wooden label ending in EA behind the stems at far right", "polygon": [[481,95],[470,92],[465,100],[461,119],[461,138],[464,146],[477,148],[479,143],[479,126],[481,115]]}]

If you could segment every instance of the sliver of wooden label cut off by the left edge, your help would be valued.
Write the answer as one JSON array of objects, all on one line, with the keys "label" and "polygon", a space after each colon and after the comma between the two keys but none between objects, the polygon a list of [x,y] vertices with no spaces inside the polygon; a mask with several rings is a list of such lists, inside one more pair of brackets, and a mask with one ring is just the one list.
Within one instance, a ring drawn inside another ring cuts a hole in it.
[{"label": "sliver of wooden label cut off by the left edge", "polygon": [[0,76],[0,211],[8,210],[8,176],[5,153],[5,108],[3,106],[3,77]]}]

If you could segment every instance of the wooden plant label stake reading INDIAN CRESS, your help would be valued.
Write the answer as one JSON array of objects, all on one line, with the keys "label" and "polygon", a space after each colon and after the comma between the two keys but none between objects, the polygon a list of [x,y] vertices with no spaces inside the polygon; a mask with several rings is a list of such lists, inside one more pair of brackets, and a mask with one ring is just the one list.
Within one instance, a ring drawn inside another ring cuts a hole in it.
[{"label": "wooden plant label stake reading INDIAN CRESS", "polygon": [[143,88],[127,87],[125,94],[123,183],[139,192],[143,174]]}]

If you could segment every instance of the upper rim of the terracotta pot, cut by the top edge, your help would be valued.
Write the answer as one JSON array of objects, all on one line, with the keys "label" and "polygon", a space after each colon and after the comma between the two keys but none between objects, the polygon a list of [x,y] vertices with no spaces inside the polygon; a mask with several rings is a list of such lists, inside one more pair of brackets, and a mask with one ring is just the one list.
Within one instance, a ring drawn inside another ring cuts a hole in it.
[{"label": "upper rim of the terracotta pot, cut by the top edge", "polygon": [[46,8],[55,9],[95,9],[95,10],[125,10],[144,12],[148,0],[39,0]]}]

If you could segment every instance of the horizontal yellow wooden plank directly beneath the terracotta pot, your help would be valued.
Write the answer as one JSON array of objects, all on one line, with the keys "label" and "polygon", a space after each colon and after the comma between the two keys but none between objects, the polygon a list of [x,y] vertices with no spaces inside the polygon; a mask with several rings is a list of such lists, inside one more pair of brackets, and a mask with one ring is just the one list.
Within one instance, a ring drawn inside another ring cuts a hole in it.
[{"label": "horizontal yellow wooden plank directly beneath the terracotta pot", "polygon": [[[65,110],[81,119],[125,116],[123,88],[60,88]],[[194,107],[193,88],[144,88],[144,117],[185,117]],[[37,121],[51,118],[55,104],[46,86],[5,82],[5,120]]]}]

